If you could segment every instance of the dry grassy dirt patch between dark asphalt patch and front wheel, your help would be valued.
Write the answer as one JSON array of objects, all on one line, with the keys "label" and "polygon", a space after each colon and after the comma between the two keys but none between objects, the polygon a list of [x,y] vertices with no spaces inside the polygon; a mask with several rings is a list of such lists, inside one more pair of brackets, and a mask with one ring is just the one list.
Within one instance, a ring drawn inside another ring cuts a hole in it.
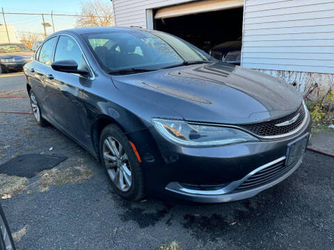
[{"label": "dry grassy dirt patch between dark asphalt patch and front wheel", "polygon": [[68,167],[60,170],[53,168],[40,172],[42,176],[38,183],[40,192],[46,192],[51,185],[64,185],[66,183],[82,183],[93,176],[93,172],[87,167]]}]

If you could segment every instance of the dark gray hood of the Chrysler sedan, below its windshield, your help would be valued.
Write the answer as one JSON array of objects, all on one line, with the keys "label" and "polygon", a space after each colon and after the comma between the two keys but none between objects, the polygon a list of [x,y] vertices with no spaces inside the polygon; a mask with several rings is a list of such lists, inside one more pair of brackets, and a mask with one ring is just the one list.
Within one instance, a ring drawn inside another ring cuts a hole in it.
[{"label": "dark gray hood of the Chrysler sedan, below its windshield", "polygon": [[301,105],[301,96],[291,85],[222,62],[113,76],[113,82],[125,91],[123,84],[156,92],[146,95],[150,103],[196,122],[263,122],[292,113]]}]

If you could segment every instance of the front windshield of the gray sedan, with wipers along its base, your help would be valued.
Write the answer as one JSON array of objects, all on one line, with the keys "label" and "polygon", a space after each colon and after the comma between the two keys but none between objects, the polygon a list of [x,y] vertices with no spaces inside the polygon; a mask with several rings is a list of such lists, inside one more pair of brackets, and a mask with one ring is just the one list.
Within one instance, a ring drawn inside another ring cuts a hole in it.
[{"label": "front windshield of the gray sedan, with wipers along its base", "polygon": [[189,42],[159,31],[93,33],[84,35],[84,38],[101,67],[110,73],[216,61]]}]

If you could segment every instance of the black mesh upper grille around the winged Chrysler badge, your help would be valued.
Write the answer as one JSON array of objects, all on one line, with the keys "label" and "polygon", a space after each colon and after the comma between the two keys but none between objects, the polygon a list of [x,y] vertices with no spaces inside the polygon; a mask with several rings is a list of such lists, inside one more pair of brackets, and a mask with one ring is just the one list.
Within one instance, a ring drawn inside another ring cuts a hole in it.
[{"label": "black mesh upper grille around the winged Chrysler badge", "polygon": [[[296,115],[299,115],[298,119],[296,119],[296,122],[286,125],[286,126],[275,126],[276,124],[280,124],[283,122],[287,122],[291,120],[292,118],[296,117]],[[257,124],[245,124],[241,125],[241,128],[246,129],[247,131],[250,131],[254,133],[255,135],[259,136],[273,136],[273,135],[283,135],[285,133],[289,133],[291,131],[294,131],[296,128],[298,128],[299,125],[303,122],[305,118],[305,110],[303,108],[303,104],[296,110],[294,113],[287,115],[285,117],[274,119],[269,122],[260,122]]]}]

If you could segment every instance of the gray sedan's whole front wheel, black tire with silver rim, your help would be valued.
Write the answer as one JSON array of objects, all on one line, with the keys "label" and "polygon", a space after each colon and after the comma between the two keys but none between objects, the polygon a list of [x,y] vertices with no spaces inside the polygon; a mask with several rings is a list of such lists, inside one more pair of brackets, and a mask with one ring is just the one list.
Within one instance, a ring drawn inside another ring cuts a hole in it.
[{"label": "gray sedan's whole front wheel, black tire with silver rim", "polygon": [[113,190],[129,201],[145,197],[143,169],[125,134],[116,126],[106,126],[100,137],[100,156]]}]

